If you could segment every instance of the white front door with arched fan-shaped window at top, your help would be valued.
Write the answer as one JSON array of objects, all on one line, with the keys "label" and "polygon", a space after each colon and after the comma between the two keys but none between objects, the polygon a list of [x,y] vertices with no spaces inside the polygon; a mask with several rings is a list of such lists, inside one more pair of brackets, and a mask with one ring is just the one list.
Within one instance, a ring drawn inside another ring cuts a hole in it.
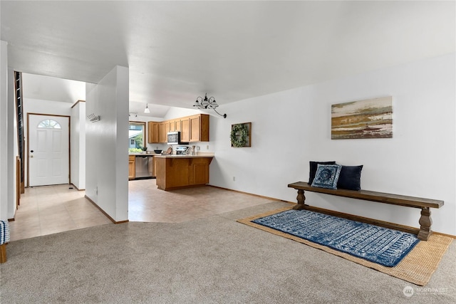
[{"label": "white front door with arched fan-shaped window at top", "polygon": [[29,187],[70,181],[69,117],[28,117]]}]

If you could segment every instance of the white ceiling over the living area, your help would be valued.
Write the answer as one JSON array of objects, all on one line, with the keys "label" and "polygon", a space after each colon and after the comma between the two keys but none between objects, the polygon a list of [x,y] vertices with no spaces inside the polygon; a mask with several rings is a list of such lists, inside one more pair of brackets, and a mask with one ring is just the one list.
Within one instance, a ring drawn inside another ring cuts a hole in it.
[{"label": "white ceiling over the living area", "polygon": [[205,92],[223,105],[455,52],[455,1],[0,5],[11,68],[97,83],[128,66],[133,112],[192,108]]}]

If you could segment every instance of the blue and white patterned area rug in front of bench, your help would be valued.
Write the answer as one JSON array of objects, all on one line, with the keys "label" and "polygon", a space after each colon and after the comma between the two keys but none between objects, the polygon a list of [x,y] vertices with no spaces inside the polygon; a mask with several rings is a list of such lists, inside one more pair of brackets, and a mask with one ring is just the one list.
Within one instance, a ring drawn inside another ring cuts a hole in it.
[{"label": "blue and white patterned area rug in front of bench", "polygon": [[252,222],[386,267],[396,266],[420,241],[414,234],[309,210],[291,209]]}]

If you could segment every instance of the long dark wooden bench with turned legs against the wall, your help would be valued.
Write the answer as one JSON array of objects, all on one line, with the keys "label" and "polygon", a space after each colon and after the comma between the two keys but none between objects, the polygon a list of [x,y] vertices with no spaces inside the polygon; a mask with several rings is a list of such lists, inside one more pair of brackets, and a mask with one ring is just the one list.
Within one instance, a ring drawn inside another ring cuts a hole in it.
[{"label": "long dark wooden bench with turned legs against the wall", "polygon": [[[432,234],[430,230],[430,226],[432,225],[432,219],[430,218],[430,208],[440,208],[443,206],[443,201],[437,199],[423,199],[421,197],[414,197],[414,196],[405,196],[405,195],[398,195],[398,194],[389,194],[383,192],[373,192],[373,191],[354,191],[354,190],[346,190],[346,189],[325,189],[325,188],[318,188],[318,187],[311,187],[306,182],[295,182],[293,184],[288,185],[289,188],[294,188],[298,190],[298,196],[296,199],[298,200],[298,204],[294,206],[294,209],[306,209],[317,211],[321,213],[336,215],[340,217],[344,217],[346,219],[352,219],[354,221],[363,221],[368,224],[374,224],[377,226],[383,226],[391,229],[396,229],[400,231],[410,232],[412,234],[418,234],[418,239],[427,241],[429,236]],[[392,204],[398,206],[406,206],[406,207],[413,207],[413,208],[420,208],[421,209],[421,217],[420,217],[420,229],[415,229],[413,227],[403,226],[399,224],[388,223],[386,221],[379,221],[375,219],[368,219],[362,216],[355,216],[352,214],[343,214],[337,211],[330,211],[327,209],[321,209],[318,207],[313,207],[305,204],[306,196],[304,196],[304,190],[310,192],[318,192],[324,194],[331,194],[336,196],[343,196],[349,197],[351,199],[363,199],[365,201],[377,201],[379,203],[384,204]]]}]

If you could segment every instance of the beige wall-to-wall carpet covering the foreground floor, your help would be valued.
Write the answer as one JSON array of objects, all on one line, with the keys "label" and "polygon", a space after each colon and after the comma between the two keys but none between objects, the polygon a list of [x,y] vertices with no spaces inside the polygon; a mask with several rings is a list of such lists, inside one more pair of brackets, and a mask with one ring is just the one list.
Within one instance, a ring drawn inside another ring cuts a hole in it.
[{"label": "beige wall-to-wall carpet covering the foreground floor", "polygon": [[[420,289],[237,223],[285,206],[11,241],[0,303],[456,303],[455,242]],[[413,288],[412,297],[404,288]]]}]

